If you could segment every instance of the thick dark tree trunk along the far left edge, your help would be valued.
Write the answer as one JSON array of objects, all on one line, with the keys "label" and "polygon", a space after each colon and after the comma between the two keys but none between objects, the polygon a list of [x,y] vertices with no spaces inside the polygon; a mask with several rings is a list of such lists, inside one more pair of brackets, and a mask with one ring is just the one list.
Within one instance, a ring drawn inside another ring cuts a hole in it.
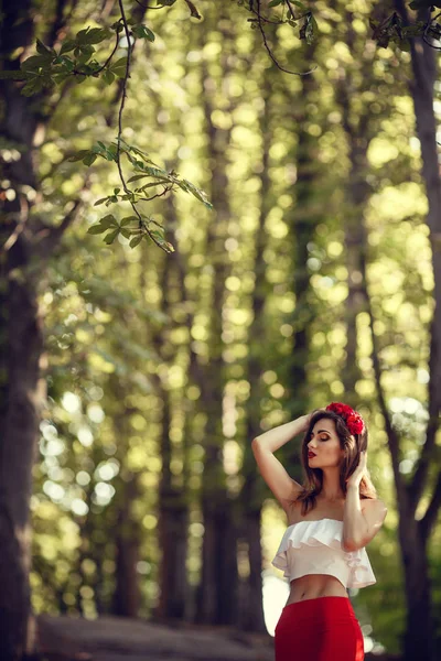
[{"label": "thick dark tree trunk along the far left edge", "polygon": [[[14,7],[15,4],[15,7]],[[0,56],[4,66],[10,54],[32,40],[31,2],[3,3],[0,25]],[[19,13],[22,22],[17,25]],[[26,643],[30,616],[30,523],[29,501],[35,459],[40,403],[44,384],[39,381],[43,350],[33,254],[29,202],[20,194],[23,184],[36,187],[32,161],[36,119],[17,85],[0,80],[3,110],[0,132],[21,148],[18,161],[3,163],[2,176],[14,192],[7,198],[0,223],[0,658],[20,659]]]}]

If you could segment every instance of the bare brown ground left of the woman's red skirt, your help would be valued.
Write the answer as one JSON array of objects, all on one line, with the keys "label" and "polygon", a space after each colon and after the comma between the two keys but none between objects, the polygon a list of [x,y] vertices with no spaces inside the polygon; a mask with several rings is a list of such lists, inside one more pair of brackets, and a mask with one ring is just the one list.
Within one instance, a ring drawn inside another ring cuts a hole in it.
[{"label": "bare brown ground left of the woman's red skirt", "polygon": [[[36,631],[44,661],[275,661],[271,636],[232,627],[41,615]],[[399,658],[366,654],[365,661]]]}]

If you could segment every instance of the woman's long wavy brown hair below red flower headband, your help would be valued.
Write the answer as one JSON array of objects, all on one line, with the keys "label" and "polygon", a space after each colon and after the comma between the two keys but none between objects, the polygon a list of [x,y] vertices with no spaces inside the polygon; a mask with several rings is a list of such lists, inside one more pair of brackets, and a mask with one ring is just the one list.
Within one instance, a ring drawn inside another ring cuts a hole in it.
[{"label": "woman's long wavy brown hair below red flower headband", "polygon": [[[323,488],[323,470],[321,468],[311,468],[308,462],[308,443],[311,438],[311,432],[314,424],[322,418],[329,418],[335,423],[335,431],[340,438],[340,446],[346,452],[340,466],[340,486],[346,495],[346,480],[358,466],[361,454],[367,449],[367,426],[361,434],[351,434],[344,419],[334,411],[319,410],[311,415],[310,424],[302,441],[301,460],[305,475],[303,480],[303,491],[301,491],[294,501],[302,503],[302,516],[304,517],[315,507],[315,499]],[[369,472],[366,468],[359,483],[361,498],[377,498],[377,491],[370,479]]]}]

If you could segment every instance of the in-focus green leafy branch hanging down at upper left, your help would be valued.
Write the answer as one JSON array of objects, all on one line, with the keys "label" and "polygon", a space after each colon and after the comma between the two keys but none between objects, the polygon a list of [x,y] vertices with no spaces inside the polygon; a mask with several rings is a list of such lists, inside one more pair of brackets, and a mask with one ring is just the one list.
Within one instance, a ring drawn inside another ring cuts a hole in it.
[{"label": "in-focus green leafy branch hanging down at upper left", "polygon": [[[201,19],[201,15],[193,2],[184,0],[190,9],[191,15]],[[171,7],[176,0],[157,0],[157,6],[150,9],[163,9]],[[139,2],[141,4],[141,2]],[[205,193],[197,188],[187,180],[181,178],[174,171],[166,172],[150,160],[149,155],[141,149],[128,144],[122,139],[122,113],[127,98],[127,86],[130,77],[131,57],[137,40],[154,41],[154,33],[144,24],[137,24],[136,21],[128,20],[123,7],[123,1],[118,0],[120,17],[109,28],[86,28],[76,33],[75,39],[66,39],[61,43],[61,47],[46,46],[42,41],[36,40],[36,54],[28,57],[21,63],[19,71],[0,72],[2,78],[13,78],[23,82],[21,94],[32,96],[42,94],[45,89],[49,91],[55,86],[61,85],[68,78],[74,78],[76,83],[82,83],[88,77],[101,78],[106,85],[111,85],[116,79],[122,79],[121,101],[118,112],[118,136],[115,142],[105,144],[97,142],[88,150],[82,150],[69,156],[67,161],[82,161],[90,166],[98,156],[117,164],[119,178],[122,186],[114,188],[114,193],[98,199],[96,205],[128,202],[132,208],[133,215],[125,217],[120,223],[112,214],[104,216],[97,225],[89,227],[89,234],[103,234],[110,230],[104,240],[111,243],[119,234],[130,239],[130,247],[135,248],[140,241],[150,238],[159,248],[165,252],[173,252],[173,246],[164,238],[164,228],[152,217],[147,216],[140,210],[139,204],[151,202],[162,197],[173,191],[184,191],[192,194],[207,208],[213,206],[208,202]],[[120,57],[115,61],[115,54],[120,44],[120,35],[125,34],[127,41],[127,57]],[[109,40],[115,34],[114,47],[100,64],[96,57],[97,44]],[[126,156],[132,167],[132,176],[126,181],[122,172],[121,156]],[[139,187],[130,188],[128,184],[148,180]],[[135,225],[133,225],[135,224]]]}]

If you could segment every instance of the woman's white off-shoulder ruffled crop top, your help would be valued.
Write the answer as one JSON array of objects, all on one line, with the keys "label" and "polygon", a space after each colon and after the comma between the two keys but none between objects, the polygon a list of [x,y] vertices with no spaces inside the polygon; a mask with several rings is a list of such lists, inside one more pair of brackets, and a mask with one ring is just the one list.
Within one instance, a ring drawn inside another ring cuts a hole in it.
[{"label": "woman's white off-shoulder ruffled crop top", "polygon": [[289,525],[272,561],[293,581],[305,574],[329,574],[347,587],[376,583],[366,549],[342,549],[343,521],[320,519]]}]

